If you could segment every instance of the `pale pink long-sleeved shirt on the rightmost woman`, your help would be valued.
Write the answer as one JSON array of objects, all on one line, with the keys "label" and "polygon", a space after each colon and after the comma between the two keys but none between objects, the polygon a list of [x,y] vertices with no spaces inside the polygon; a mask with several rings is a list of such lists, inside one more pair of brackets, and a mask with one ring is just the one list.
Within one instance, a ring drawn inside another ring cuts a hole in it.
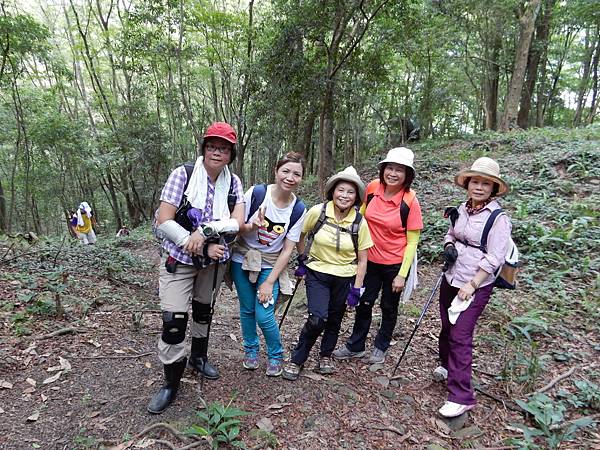
[{"label": "pale pink long-sleeved shirt on the rightmost woman", "polygon": [[465,203],[461,203],[459,206],[458,219],[454,227],[450,226],[444,237],[444,245],[447,242],[452,242],[458,251],[458,259],[446,272],[446,280],[452,286],[463,287],[473,279],[479,269],[483,269],[490,274],[481,283],[481,286],[487,286],[494,282],[495,276],[493,274],[504,264],[504,257],[508,251],[512,229],[510,219],[505,214],[501,214],[496,218],[488,235],[487,253],[483,253],[478,248],[465,245],[460,241],[479,245],[487,218],[492,211],[498,208],[500,208],[500,205],[496,200],[493,200],[480,213],[469,215]]}]

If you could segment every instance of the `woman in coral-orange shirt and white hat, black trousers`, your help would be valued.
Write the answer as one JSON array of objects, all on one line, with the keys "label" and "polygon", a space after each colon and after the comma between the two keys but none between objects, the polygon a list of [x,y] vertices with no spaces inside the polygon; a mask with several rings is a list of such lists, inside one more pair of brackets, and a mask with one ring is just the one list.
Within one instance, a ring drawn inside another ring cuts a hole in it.
[{"label": "woman in coral-orange shirt and white hat, black trousers", "polygon": [[365,217],[373,247],[369,249],[365,292],[356,308],[352,335],[333,352],[336,359],[360,358],[365,353],[372,310],[381,294],[381,325],[369,362],[383,363],[396,327],[400,294],[413,263],[420,230],[421,207],[410,189],[415,178],[414,154],[405,147],[391,149],[379,163],[379,179],[367,187]]}]

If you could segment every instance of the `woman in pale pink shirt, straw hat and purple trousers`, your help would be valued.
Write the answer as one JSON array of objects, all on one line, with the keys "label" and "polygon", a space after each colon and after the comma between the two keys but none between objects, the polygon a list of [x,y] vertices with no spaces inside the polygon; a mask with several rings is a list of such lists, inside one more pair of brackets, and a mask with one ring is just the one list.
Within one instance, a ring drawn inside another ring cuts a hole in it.
[{"label": "woman in pale pink shirt, straw hat and purple trousers", "polygon": [[467,190],[467,201],[458,207],[457,215],[451,216],[452,224],[444,238],[444,260],[450,268],[440,287],[441,365],[433,372],[436,381],[447,380],[448,401],[439,410],[444,417],[460,416],[475,406],[471,386],[473,332],[492,295],[494,273],[504,263],[511,233],[510,219],[500,214],[489,230],[486,248],[481,248],[487,219],[501,210],[496,198],[509,191],[496,161],[479,158],[470,169],[459,172],[454,182]]}]

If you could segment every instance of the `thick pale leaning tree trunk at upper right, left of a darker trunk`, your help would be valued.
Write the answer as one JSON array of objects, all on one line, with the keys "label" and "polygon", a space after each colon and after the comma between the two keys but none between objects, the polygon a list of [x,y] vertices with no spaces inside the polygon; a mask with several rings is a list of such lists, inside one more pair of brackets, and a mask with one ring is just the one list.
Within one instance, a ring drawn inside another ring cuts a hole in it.
[{"label": "thick pale leaning tree trunk at upper right, left of a darker trunk", "polygon": [[517,126],[519,101],[525,81],[525,70],[527,69],[527,56],[529,55],[529,46],[539,9],[540,0],[530,0],[519,18],[519,43],[517,44],[513,72],[504,102],[504,114],[500,124],[502,131],[508,131]]}]

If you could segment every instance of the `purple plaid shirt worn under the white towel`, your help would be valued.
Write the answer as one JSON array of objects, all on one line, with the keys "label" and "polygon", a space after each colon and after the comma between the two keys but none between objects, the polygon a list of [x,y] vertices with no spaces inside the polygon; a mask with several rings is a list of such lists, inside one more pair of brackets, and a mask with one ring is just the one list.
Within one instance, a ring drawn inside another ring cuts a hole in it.
[{"label": "purple plaid shirt worn under the white towel", "polygon": [[[206,205],[202,212],[202,223],[210,222],[213,220],[213,200],[215,196],[215,185],[210,180],[210,177],[206,176],[208,180],[207,186],[207,194],[206,194]],[[185,167],[179,166],[167,179],[165,186],[163,187],[162,193],[160,194],[160,201],[169,203],[175,207],[179,207],[181,200],[183,198],[183,194],[185,192],[185,182],[187,181],[187,173],[185,171]],[[231,183],[233,184],[232,190],[236,196],[236,205],[238,203],[244,203],[244,192],[242,190],[242,182],[238,178],[237,175],[231,174]],[[183,251],[181,247],[175,245],[175,243],[171,242],[168,239],[163,239],[162,247],[169,252],[173,258],[183,264],[193,265],[192,257],[189,253]],[[219,262],[223,263],[229,259],[229,248],[227,244],[225,244],[225,253],[223,257],[219,260]]]}]

